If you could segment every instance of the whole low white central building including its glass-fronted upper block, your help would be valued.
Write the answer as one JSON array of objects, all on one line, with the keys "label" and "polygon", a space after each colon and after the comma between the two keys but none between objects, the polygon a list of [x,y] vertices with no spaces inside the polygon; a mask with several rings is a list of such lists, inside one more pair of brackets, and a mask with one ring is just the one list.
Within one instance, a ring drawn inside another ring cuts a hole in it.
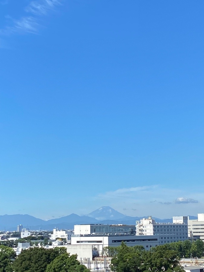
[{"label": "whole low white central building including its glass-fronted upper block", "polygon": [[159,245],[157,236],[136,236],[135,229],[136,227],[133,225],[75,225],[74,235],[71,237],[71,244],[67,246],[67,251],[69,252],[72,247],[82,248],[90,245],[92,251],[96,251],[96,255],[101,256],[105,247],[117,247],[121,245],[122,241],[128,246],[142,245],[146,250]]}]

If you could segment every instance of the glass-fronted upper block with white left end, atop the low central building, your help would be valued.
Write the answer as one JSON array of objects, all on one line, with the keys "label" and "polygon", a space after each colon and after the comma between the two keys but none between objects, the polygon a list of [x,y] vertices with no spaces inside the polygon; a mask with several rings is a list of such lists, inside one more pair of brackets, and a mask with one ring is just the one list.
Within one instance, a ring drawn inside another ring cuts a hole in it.
[{"label": "glass-fronted upper block with white left end, atop the low central building", "polygon": [[135,235],[134,225],[104,225],[104,224],[85,224],[85,225],[75,225],[74,234],[75,235],[86,235],[86,234],[125,234],[125,235]]}]

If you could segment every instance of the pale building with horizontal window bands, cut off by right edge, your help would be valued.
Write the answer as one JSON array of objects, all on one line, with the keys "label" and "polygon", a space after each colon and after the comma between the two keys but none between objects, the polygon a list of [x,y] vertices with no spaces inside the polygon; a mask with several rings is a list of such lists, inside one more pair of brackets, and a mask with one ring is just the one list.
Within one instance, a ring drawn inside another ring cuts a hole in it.
[{"label": "pale building with horizontal window bands, cut off by right edge", "polygon": [[188,220],[188,236],[204,241],[204,213],[198,213],[198,219]]}]

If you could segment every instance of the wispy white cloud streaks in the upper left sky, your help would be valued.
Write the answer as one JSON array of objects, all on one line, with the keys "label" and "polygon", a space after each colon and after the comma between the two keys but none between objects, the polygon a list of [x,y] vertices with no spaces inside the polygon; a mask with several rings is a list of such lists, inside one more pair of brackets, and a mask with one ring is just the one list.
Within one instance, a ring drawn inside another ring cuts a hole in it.
[{"label": "wispy white cloud streaks in the upper left sky", "polygon": [[[24,15],[21,18],[14,19],[9,15],[9,25],[0,29],[0,34],[10,35],[13,33],[37,33],[40,25],[40,18],[49,11],[53,11],[62,3],[63,0],[33,0],[24,8]],[[2,5],[5,1],[0,2]]]}]

